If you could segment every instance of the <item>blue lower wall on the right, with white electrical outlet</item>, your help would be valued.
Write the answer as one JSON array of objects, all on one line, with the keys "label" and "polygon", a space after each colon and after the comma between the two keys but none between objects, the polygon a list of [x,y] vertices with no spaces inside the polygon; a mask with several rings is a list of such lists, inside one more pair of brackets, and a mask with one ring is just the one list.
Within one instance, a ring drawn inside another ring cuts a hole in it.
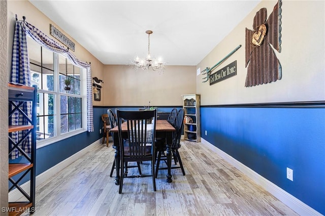
[{"label": "blue lower wall on the right, with white electrical outlet", "polygon": [[[209,143],[325,214],[324,107],[201,107],[201,132]],[[294,170],[293,182],[286,179],[286,167]]]}]

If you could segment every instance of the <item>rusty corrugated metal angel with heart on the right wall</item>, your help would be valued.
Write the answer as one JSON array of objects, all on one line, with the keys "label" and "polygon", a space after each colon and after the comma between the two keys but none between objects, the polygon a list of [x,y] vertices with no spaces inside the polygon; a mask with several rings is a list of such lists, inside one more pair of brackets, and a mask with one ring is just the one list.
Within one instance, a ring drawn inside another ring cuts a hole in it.
[{"label": "rusty corrugated metal angel with heart on the right wall", "polygon": [[267,20],[267,10],[259,10],[253,20],[253,30],[246,28],[245,87],[281,79],[282,68],[273,48],[281,53],[281,1],[274,6]]}]

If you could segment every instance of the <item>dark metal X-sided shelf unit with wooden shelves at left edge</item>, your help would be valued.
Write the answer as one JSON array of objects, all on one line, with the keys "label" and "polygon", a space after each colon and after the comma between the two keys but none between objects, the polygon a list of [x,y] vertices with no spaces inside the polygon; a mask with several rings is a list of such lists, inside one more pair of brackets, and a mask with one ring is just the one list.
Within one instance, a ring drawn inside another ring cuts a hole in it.
[{"label": "dark metal X-sided shelf unit with wooden shelves at left edge", "polygon": [[[9,202],[9,215],[20,215],[35,211],[35,180],[36,180],[36,123],[37,123],[37,86],[27,87],[8,83],[9,99],[9,192],[19,190],[22,201]],[[30,104],[29,112],[23,108]],[[18,115],[17,115],[18,113]],[[19,119],[18,124],[12,119]],[[30,152],[25,152],[23,145],[30,145]],[[18,150],[19,157],[11,160],[10,155]],[[16,162],[17,161],[17,162]],[[29,189],[21,187],[23,179],[29,180]]]}]

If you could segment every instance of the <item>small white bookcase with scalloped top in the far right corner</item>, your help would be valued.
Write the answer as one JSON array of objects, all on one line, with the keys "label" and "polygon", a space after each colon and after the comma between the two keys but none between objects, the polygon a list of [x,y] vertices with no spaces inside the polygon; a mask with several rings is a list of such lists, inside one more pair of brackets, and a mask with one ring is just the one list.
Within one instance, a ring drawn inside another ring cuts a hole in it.
[{"label": "small white bookcase with scalloped top in the far right corner", "polygon": [[184,140],[201,142],[200,95],[182,95],[184,109]]}]

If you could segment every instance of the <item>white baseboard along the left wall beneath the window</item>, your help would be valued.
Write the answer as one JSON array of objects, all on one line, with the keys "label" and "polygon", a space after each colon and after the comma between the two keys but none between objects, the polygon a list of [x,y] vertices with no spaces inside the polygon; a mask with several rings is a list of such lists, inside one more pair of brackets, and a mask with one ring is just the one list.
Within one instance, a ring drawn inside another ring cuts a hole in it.
[{"label": "white baseboard along the left wall beneath the window", "polygon": [[[46,171],[42,172],[40,175],[38,175],[36,177],[36,187],[41,185],[42,183],[44,183],[46,180],[50,179],[51,177],[53,177],[55,174],[57,174],[57,172],[61,171],[63,168],[66,168],[67,166],[69,166],[71,163],[76,161],[78,158],[83,156],[88,151],[92,150],[98,144],[102,144],[102,139],[93,142],[86,148],[78,151],[77,153],[71,155],[67,159],[59,162],[58,164],[56,164],[56,165],[52,166],[51,168],[47,169]],[[20,185],[20,187],[26,193],[29,194],[29,190],[30,190],[30,182],[29,181]],[[18,189],[14,189],[9,192],[9,197],[8,197],[9,202],[16,202],[16,201],[19,201],[19,199],[21,199],[21,198],[23,198],[23,195],[20,193],[20,191]]]}]

